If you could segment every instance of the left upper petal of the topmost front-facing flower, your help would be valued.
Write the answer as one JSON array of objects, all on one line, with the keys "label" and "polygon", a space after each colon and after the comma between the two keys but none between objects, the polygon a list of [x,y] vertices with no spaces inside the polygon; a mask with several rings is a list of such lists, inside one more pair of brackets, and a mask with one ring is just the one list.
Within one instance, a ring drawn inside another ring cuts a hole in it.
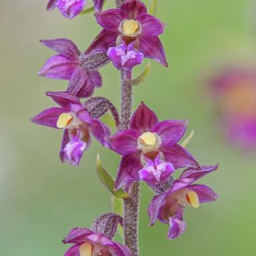
[{"label": "left upper petal of the topmost front-facing flower", "polygon": [[108,31],[117,31],[123,17],[119,9],[109,9],[108,11],[95,13],[98,24]]}]

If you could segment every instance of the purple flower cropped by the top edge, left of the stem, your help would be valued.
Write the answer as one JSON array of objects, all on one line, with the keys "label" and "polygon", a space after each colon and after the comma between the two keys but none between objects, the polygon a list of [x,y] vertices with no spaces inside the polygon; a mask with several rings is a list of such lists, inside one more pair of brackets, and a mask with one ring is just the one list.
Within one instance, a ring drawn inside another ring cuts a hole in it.
[{"label": "purple flower cropped by the top edge, left of the stem", "polygon": [[[96,11],[101,11],[104,0],[94,0]],[[50,0],[46,6],[47,11],[57,7],[65,18],[73,19],[84,10],[86,0]]]}]

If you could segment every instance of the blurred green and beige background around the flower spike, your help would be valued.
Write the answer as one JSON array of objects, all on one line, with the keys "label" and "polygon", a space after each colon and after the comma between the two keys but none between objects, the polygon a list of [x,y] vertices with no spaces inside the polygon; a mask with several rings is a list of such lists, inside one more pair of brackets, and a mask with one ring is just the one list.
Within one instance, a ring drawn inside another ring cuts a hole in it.
[{"label": "blurred green and beige background around the flower spike", "polygon": [[[94,141],[78,168],[61,164],[61,133],[30,123],[53,106],[47,90],[65,90],[67,82],[38,77],[53,55],[38,40],[67,37],[84,50],[100,27],[92,14],[66,20],[46,0],[0,1],[0,255],[63,255],[61,239],[73,226],[90,226],[110,210],[110,196],[97,179],[96,153],[115,174],[119,156]],[[110,2],[110,1],[109,1]],[[145,1],[148,3],[148,1]],[[91,3],[88,3],[90,6]],[[170,67],[152,62],[146,83],[135,88],[134,107],[143,100],[160,119],[189,119],[195,137],[189,150],[201,164],[220,163],[203,179],[220,199],[198,210],[187,208],[187,232],[168,241],[168,226],[148,226],[152,192],[141,191],[141,256],[255,255],[255,152],[231,148],[218,129],[205,75],[222,61],[255,57],[253,1],[159,0],[158,16],[168,26],[161,39]],[[255,12],[256,13],[256,12]],[[145,61],[147,63],[148,60]],[[96,95],[119,105],[119,73],[101,69],[104,86]],[[139,74],[136,69],[135,73]],[[188,133],[189,133],[188,131]]]}]

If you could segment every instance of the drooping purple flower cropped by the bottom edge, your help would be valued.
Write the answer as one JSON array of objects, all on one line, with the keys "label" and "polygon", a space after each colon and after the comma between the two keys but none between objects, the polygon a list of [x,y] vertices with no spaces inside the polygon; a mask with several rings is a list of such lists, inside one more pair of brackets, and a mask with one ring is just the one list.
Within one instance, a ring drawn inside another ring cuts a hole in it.
[{"label": "drooping purple flower cropped by the bottom edge", "polygon": [[64,256],[131,256],[124,245],[87,228],[73,228],[63,243],[75,244]]}]

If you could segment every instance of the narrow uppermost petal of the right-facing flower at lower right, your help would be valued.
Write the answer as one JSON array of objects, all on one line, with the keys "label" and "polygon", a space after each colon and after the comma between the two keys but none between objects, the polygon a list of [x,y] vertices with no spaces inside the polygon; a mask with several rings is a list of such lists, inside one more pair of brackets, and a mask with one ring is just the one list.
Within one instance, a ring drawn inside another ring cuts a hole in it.
[{"label": "narrow uppermost petal of the right-facing flower at lower right", "polygon": [[203,176],[210,174],[218,169],[218,164],[215,166],[201,166],[199,169],[188,168],[185,170],[179,179],[193,179],[193,182],[201,179]]}]

